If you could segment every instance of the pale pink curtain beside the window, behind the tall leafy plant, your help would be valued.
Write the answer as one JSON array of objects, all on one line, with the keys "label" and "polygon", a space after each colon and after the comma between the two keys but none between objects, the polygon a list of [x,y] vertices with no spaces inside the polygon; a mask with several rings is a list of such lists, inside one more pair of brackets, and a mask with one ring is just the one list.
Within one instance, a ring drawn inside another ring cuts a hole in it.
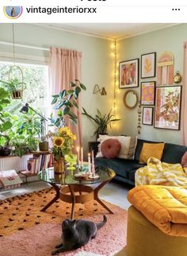
[{"label": "pale pink curtain beside the window, behind the tall leafy plant", "polygon": [[[51,94],[59,94],[63,89],[69,89],[70,82],[75,79],[81,80],[82,52],[63,48],[51,48],[51,60],[49,65]],[[76,126],[69,120],[66,120],[67,126],[77,136],[74,146],[82,145],[82,127],[81,127],[81,106],[80,95],[78,98],[79,111],[73,109],[74,114],[78,116],[78,125]]]}]

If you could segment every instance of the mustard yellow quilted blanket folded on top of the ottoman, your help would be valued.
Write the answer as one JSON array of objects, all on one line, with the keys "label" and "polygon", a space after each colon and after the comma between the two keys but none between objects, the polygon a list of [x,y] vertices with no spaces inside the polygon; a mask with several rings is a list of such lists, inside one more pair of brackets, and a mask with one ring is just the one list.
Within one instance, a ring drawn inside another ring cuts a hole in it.
[{"label": "mustard yellow quilted blanket folded on top of the ottoman", "polygon": [[187,190],[143,185],[128,192],[129,202],[167,235],[187,237]]}]

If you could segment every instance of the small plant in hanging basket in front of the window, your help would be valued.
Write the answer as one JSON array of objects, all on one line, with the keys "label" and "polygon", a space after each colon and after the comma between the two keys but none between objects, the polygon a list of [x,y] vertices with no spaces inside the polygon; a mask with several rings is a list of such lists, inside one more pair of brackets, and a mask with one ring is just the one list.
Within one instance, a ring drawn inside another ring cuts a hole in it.
[{"label": "small plant in hanging basket in front of the window", "polygon": [[21,99],[23,91],[25,90],[26,84],[20,82],[17,78],[11,79],[9,82],[0,80],[1,83],[5,83],[7,90],[10,91],[12,99]]}]

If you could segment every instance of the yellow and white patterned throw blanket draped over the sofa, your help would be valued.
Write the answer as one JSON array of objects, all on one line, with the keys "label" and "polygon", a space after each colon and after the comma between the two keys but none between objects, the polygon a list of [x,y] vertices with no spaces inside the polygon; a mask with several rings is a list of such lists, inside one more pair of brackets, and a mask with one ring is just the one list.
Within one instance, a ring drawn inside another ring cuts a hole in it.
[{"label": "yellow and white patterned throw blanket draped over the sofa", "polygon": [[187,168],[183,169],[180,164],[167,164],[155,157],[150,157],[147,165],[135,172],[135,186],[161,184],[187,187],[186,171]]}]

